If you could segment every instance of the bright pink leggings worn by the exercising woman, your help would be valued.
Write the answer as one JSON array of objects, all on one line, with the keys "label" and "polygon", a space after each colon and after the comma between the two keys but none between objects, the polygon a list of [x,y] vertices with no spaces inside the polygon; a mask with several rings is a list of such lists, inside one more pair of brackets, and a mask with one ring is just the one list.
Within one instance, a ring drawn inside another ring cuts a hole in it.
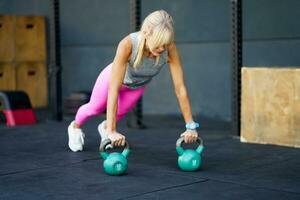
[{"label": "bright pink leggings worn by the exercising woman", "polygon": [[[77,111],[75,117],[76,124],[83,125],[90,117],[105,111],[109,80],[111,77],[111,67],[112,64],[108,65],[98,76],[90,101],[87,104],[82,105]],[[145,86],[138,89],[130,89],[124,85],[121,86],[118,96],[117,121],[122,119],[126,113],[134,108],[144,91]]]}]

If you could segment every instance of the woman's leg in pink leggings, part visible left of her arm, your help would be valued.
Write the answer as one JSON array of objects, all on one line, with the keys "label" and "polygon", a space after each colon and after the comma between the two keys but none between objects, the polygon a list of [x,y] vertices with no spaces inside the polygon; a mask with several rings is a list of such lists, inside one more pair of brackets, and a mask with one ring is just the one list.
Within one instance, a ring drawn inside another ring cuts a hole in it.
[{"label": "woman's leg in pink leggings, part visible left of her arm", "polygon": [[111,64],[108,65],[98,76],[90,101],[78,109],[75,117],[76,125],[83,125],[90,117],[98,115],[106,109],[110,72]]}]

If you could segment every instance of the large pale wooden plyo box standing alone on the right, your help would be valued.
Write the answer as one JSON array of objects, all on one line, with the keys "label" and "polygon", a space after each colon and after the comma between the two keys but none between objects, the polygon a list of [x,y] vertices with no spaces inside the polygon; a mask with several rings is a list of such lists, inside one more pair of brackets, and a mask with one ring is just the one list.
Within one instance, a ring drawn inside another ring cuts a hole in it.
[{"label": "large pale wooden plyo box standing alone on the right", "polygon": [[242,69],[242,142],[300,147],[300,69]]}]

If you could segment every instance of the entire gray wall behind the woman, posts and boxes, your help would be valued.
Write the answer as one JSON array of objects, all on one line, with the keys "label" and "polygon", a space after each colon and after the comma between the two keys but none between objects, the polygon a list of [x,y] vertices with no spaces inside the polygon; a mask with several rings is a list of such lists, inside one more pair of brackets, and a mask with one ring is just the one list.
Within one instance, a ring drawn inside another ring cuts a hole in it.
[{"label": "entire gray wall behind the woman, posts and boxes", "polygon": [[[174,18],[194,115],[231,119],[230,1],[143,0],[143,18],[165,9]],[[50,13],[48,0],[0,0],[4,14]],[[125,0],[61,0],[63,97],[91,90],[116,45],[129,33]],[[299,66],[300,1],[244,0],[245,66]],[[168,66],[149,84],[146,114],[180,114]]]}]

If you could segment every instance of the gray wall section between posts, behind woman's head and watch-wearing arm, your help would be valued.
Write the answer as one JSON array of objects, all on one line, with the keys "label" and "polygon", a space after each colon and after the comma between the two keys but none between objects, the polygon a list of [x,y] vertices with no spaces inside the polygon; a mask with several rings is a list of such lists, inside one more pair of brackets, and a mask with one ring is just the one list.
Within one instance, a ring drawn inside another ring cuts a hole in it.
[{"label": "gray wall section between posts, behind woman's head and watch-wearing arm", "polygon": [[[175,39],[181,53],[193,114],[229,121],[228,1],[143,1],[144,16],[157,9],[165,9],[174,18]],[[157,90],[159,87],[163,89]],[[179,113],[172,88],[166,68],[149,85],[145,110],[149,113]]]}]

